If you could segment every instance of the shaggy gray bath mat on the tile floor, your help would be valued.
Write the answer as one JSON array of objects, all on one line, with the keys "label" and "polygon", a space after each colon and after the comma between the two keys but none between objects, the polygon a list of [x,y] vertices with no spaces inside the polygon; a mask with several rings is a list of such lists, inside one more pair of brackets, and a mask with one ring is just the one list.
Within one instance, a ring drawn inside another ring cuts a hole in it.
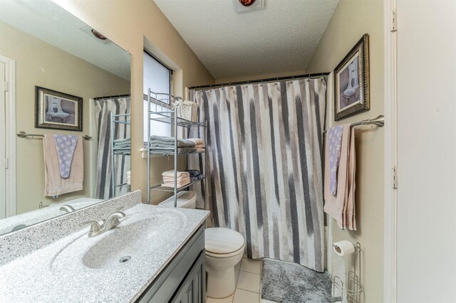
[{"label": "shaggy gray bath mat on the tile floor", "polygon": [[331,302],[331,277],[302,265],[264,259],[261,299],[274,302]]}]

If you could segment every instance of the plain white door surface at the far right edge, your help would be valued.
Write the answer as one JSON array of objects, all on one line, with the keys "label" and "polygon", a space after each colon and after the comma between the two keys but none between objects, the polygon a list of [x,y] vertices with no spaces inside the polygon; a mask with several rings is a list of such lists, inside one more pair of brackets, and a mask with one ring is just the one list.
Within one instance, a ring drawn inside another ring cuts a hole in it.
[{"label": "plain white door surface at the far right edge", "polygon": [[398,302],[456,302],[456,1],[398,0]]}]

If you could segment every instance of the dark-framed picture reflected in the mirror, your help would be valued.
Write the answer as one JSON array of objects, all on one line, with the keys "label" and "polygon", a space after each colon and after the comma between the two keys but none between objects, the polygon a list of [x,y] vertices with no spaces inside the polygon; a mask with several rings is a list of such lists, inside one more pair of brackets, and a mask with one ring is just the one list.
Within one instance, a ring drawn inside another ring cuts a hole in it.
[{"label": "dark-framed picture reflected in the mirror", "polygon": [[83,98],[35,86],[35,127],[83,131]]}]

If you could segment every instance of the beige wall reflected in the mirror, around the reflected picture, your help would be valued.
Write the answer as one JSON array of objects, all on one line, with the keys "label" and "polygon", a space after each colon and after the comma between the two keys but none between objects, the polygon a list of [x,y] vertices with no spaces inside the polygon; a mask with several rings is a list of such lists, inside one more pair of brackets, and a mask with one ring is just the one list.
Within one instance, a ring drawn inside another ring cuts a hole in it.
[{"label": "beige wall reflected in the mirror, around the reflected picture", "polygon": [[[29,133],[89,134],[90,98],[130,92],[130,82],[51,46],[28,33],[0,22],[0,55],[16,60],[16,129]],[[83,132],[35,129],[35,85],[83,98]],[[41,139],[16,139],[17,193],[16,213],[38,209],[51,202],[90,196],[89,144],[84,142],[83,191],[67,193],[56,199],[43,196],[43,142]]]}]

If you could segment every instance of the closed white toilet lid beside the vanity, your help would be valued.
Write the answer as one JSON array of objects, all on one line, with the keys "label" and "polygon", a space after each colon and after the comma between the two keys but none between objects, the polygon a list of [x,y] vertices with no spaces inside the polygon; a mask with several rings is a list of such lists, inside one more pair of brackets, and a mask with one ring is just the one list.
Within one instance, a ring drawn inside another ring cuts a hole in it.
[{"label": "closed white toilet lid beside the vanity", "polygon": [[212,253],[227,254],[241,249],[244,245],[244,237],[229,228],[206,228],[205,238],[204,247]]}]

